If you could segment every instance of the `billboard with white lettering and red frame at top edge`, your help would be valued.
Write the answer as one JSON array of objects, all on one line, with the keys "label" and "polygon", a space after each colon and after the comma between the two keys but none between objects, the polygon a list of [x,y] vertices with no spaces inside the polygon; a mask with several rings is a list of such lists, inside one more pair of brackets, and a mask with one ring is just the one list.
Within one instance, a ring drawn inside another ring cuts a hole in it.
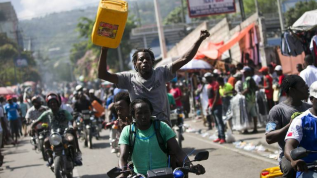
[{"label": "billboard with white lettering and red frame at top edge", "polygon": [[236,11],[235,0],[187,0],[190,17],[201,17]]}]

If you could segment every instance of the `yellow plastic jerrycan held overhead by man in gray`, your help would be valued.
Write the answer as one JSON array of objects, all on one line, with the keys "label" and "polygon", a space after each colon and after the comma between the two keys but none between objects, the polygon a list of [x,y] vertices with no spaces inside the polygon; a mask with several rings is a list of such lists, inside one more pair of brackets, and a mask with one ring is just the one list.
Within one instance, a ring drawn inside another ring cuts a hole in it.
[{"label": "yellow plastic jerrycan held overhead by man in gray", "polygon": [[95,45],[117,48],[128,18],[128,3],[124,0],[101,0],[92,32]]}]

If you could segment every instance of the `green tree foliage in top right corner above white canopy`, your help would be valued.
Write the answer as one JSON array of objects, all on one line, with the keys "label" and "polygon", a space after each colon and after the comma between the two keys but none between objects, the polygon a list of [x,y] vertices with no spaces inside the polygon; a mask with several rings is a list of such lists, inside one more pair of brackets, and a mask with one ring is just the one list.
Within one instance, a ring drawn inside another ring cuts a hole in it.
[{"label": "green tree foliage in top right corner above white canopy", "polygon": [[286,19],[286,26],[291,26],[293,23],[300,18],[306,11],[317,9],[317,2],[311,1],[299,1],[295,4],[295,7],[288,9],[284,17]]}]

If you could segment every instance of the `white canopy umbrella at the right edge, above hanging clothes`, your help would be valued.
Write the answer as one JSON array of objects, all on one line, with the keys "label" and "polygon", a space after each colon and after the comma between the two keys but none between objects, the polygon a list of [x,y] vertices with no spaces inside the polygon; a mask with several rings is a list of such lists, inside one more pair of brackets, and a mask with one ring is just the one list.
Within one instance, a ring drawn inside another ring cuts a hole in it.
[{"label": "white canopy umbrella at the right edge, above hanging clothes", "polygon": [[310,30],[315,26],[317,26],[317,10],[311,10],[305,12],[298,20],[296,20],[291,29]]}]

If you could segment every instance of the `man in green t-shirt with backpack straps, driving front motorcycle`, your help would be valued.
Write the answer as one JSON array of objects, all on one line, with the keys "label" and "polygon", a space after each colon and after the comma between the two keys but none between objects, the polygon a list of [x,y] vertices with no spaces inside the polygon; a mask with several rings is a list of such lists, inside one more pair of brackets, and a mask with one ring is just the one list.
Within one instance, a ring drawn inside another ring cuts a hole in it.
[{"label": "man in green t-shirt with backpack straps, driving front motorcycle", "polygon": [[[151,120],[153,113],[151,102],[146,98],[135,99],[130,104],[130,113],[136,123],[125,127],[120,135],[119,167],[126,170],[128,157],[131,155],[136,174],[146,175],[148,170],[166,168],[168,164],[167,154],[157,144],[158,138],[155,136],[157,129],[155,127],[158,122]],[[158,125],[159,133],[165,142],[165,147],[167,146],[167,150],[174,152],[179,161],[189,161],[184,151],[179,147],[172,129],[164,122],[159,121]],[[133,143],[130,140],[131,134],[134,137]],[[196,169],[198,175],[205,173],[205,168],[199,164],[193,166],[190,163],[189,166]],[[120,178],[125,178],[125,176],[122,174]]]}]

